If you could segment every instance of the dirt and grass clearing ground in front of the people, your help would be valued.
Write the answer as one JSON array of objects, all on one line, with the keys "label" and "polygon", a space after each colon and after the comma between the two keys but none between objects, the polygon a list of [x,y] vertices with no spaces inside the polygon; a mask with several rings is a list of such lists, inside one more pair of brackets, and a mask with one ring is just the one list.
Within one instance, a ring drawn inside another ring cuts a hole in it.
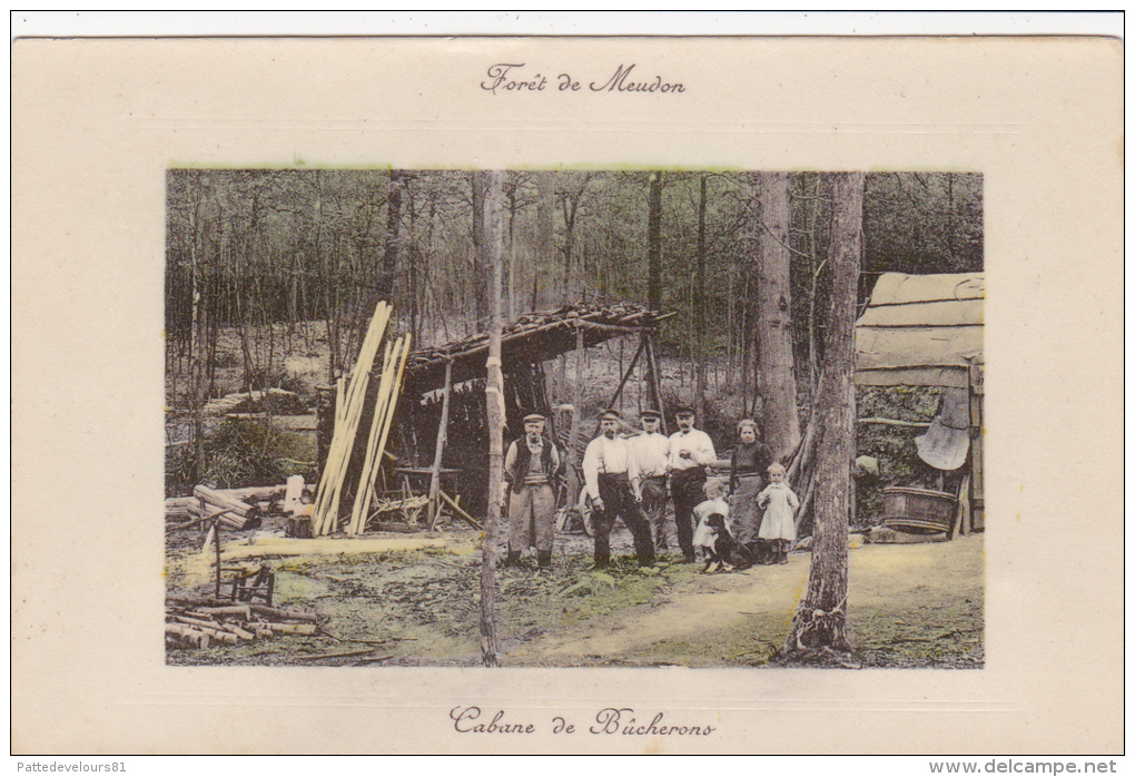
[{"label": "dirt and grass clearing ground in front of the people", "polygon": [[[233,646],[170,648],[171,665],[476,666],[480,663],[479,533],[431,534],[438,548],[267,559],[276,603],[313,610],[317,636]],[[208,595],[199,537],[169,549],[171,594]],[[629,533],[592,573],[590,540],[557,536],[553,569],[535,559],[498,573],[501,663],[508,667],[760,667],[787,634],[809,554],[743,571],[700,573],[664,560],[640,570]],[[976,668],[984,661],[982,535],[953,542],[865,545],[850,552],[849,617],[864,667]],[[345,653],[350,653],[345,655]]]}]

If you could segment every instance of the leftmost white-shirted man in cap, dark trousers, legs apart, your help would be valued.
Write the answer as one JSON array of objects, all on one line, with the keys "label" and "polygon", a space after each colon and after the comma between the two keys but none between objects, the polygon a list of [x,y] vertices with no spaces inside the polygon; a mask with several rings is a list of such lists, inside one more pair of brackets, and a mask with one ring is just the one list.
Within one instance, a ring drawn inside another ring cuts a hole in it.
[{"label": "leftmost white-shirted man in cap, dark trousers, legs apart", "polygon": [[621,418],[617,410],[605,410],[599,417],[598,437],[583,453],[583,481],[591,498],[591,525],[595,527],[595,568],[611,563],[611,529],[617,518],[634,537],[634,554],[640,567],[654,565],[650,527],[639,512],[639,471],[630,445],[619,436]]}]

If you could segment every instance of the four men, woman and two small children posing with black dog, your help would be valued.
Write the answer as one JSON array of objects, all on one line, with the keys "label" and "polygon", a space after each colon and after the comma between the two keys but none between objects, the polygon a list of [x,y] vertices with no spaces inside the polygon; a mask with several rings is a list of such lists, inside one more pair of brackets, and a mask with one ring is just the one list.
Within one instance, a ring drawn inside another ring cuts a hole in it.
[{"label": "four men, woman and two small children posing with black dog", "polygon": [[[793,511],[799,500],[784,482],[784,468],[760,442],[756,421],[738,425],[728,483],[708,477],[717,461],[713,441],[695,427],[695,412],[680,408],[678,432],[661,433],[657,410],[641,413],[641,432],[623,437],[617,410],[599,417],[599,435],[583,454],[581,502],[591,503],[595,568],[611,562],[611,530],[622,520],[634,542],[640,567],[651,567],[670,550],[666,502],[673,500],[679,562],[697,561],[703,550],[706,570],[787,562],[796,538]],[[546,419],[524,418],[524,436],[508,446],[505,481],[508,491],[506,563],[535,545],[537,565],[552,565],[555,521],[554,482],[562,466],[556,446],[544,436]],[[766,485],[765,476],[770,483]],[[669,487],[667,487],[669,485]],[[723,555],[725,548],[730,549]]]}]

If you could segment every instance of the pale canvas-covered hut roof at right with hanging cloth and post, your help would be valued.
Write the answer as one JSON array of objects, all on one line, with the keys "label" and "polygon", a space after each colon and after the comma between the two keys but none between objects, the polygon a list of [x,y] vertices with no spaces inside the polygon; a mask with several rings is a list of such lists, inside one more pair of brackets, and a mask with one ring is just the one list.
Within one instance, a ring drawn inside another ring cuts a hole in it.
[{"label": "pale canvas-covered hut roof at right with hanging cloth and post", "polygon": [[975,528],[984,526],[984,317],[981,273],[886,273],[856,321],[856,383],[950,390],[944,412],[919,438],[918,452],[940,469],[956,469],[968,452]]}]

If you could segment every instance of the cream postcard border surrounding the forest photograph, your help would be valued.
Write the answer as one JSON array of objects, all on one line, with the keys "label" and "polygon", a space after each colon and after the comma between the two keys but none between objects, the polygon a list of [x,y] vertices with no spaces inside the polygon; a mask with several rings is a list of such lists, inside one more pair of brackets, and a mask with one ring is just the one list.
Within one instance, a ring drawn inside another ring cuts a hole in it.
[{"label": "cream postcard border surrounding the forest photograph", "polygon": [[[484,89],[501,62],[548,87]],[[588,89],[630,64],[683,89]],[[26,40],[11,66],[14,752],[1121,750],[1117,41]],[[981,172],[985,668],[167,667],[165,170],[300,164]],[[457,734],[470,703],[539,733]],[[611,705],[716,730],[546,724]]]}]

